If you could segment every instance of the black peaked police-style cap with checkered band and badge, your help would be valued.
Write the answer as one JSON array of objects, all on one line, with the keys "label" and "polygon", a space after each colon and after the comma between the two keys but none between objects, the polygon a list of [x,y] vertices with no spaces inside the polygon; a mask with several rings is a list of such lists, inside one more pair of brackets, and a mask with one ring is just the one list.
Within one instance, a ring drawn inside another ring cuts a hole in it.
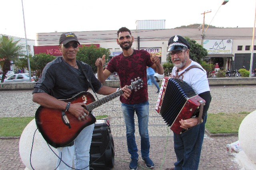
[{"label": "black peaked police-style cap with checkered band and badge", "polygon": [[173,36],[168,41],[167,51],[180,51],[185,48],[190,49],[189,43],[182,36]]}]

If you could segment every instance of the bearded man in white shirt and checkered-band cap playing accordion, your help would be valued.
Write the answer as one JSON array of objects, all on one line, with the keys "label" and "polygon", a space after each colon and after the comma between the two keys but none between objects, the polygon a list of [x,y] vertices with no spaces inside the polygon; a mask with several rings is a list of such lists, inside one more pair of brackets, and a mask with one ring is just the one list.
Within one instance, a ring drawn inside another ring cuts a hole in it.
[{"label": "bearded man in white shirt and checkered-band cap playing accordion", "polygon": [[[168,51],[174,67],[172,77],[179,77],[183,74],[183,81],[192,86],[196,94],[202,97],[204,105],[203,122],[197,125],[198,117],[181,120],[182,128],[191,128],[182,134],[174,133],[174,151],[177,162],[175,168],[166,170],[197,170],[200,160],[201,148],[204,139],[204,125],[207,119],[207,110],[211,101],[210,88],[206,71],[202,66],[189,58],[190,45],[182,36],[173,36],[168,41]],[[181,76],[179,77],[182,78]]]}]

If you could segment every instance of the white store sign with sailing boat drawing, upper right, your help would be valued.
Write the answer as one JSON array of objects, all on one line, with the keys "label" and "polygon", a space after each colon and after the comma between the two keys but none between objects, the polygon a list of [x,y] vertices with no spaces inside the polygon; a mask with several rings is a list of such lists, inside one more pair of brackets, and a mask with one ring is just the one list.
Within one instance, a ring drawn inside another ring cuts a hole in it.
[{"label": "white store sign with sailing boat drawing, upper right", "polygon": [[204,40],[204,48],[208,54],[231,54],[232,42],[232,39]]}]

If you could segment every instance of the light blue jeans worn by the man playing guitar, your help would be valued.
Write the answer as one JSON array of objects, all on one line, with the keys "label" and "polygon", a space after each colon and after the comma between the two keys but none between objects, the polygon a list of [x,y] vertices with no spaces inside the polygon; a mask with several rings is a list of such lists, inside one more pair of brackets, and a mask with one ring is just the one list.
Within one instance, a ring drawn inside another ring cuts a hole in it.
[{"label": "light blue jeans worn by the man playing guitar", "polygon": [[[92,142],[93,129],[94,129],[94,124],[84,128],[74,140],[73,146],[57,148],[59,152],[58,156],[61,157],[61,151],[62,151],[61,159],[68,166],[72,167],[73,158],[74,158],[74,168],[83,169],[86,166],[88,166],[84,170],[89,170],[90,146]],[[58,166],[57,169],[71,170],[71,168],[68,167],[66,164],[64,164],[62,161],[60,162],[60,159],[58,158],[57,166],[59,163],[60,163],[60,166]]]}]

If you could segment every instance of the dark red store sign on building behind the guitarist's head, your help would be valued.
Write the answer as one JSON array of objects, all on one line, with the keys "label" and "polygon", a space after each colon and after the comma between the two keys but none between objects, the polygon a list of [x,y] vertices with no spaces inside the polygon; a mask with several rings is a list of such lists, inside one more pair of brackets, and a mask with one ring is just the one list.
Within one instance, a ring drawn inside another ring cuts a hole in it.
[{"label": "dark red store sign on building behind the guitarist's head", "polygon": [[[84,46],[90,46],[91,44],[81,44],[79,47]],[[93,44],[96,45],[97,48],[100,47],[100,44]],[[58,45],[44,45],[44,46],[34,46],[34,55],[39,53],[46,53],[54,56],[60,56],[62,55]]]}]

